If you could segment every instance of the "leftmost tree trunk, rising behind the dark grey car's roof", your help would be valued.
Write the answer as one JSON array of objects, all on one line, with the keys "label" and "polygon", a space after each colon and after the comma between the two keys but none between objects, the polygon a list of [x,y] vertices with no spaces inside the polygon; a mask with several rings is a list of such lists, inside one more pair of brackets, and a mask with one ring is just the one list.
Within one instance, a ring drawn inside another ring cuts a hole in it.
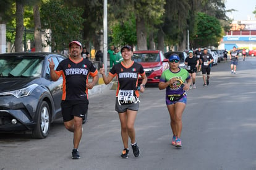
[{"label": "leftmost tree trunk, rising behind the dark grey car's roof", "polygon": [[24,25],[23,25],[23,17],[24,17],[24,9],[22,1],[16,0],[16,34],[15,34],[15,52],[23,51],[22,47],[22,36],[24,32]]}]

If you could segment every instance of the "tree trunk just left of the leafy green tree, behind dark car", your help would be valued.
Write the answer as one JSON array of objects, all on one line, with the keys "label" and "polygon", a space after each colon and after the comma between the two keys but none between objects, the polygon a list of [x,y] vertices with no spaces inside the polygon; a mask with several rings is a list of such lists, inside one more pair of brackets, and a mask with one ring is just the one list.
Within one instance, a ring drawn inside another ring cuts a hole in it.
[{"label": "tree trunk just left of the leafy green tree, behind dark car", "polygon": [[41,37],[41,20],[40,20],[40,12],[39,7],[36,4],[33,6],[33,16],[34,16],[34,25],[35,25],[35,51],[42,51],[42,37]]}]

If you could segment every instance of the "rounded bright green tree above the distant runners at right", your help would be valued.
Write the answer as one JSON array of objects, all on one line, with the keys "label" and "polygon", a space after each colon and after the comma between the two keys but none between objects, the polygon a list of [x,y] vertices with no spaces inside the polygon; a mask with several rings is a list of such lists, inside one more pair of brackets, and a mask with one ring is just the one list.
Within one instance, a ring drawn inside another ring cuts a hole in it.
[{"label": "rounded bright green tree above the distant runners at right", "polygon": [[218,46],[221,39],[220,21],[202,12],[198,12],[197,20],[197,32],[192,35],[192,40],[200,46]]}]

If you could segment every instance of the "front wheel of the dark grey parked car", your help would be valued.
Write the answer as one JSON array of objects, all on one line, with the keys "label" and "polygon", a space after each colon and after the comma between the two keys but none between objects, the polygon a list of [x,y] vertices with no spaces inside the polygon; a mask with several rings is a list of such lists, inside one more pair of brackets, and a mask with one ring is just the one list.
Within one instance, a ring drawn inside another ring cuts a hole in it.
[{"label": "front wheel of the dark grey parked car", "polygon": [[49,134],[51,126],[51,114],[49,105],[46,101],[42,101],[36,111],[36,127],[32,130],[33,138],[46,138]]}]

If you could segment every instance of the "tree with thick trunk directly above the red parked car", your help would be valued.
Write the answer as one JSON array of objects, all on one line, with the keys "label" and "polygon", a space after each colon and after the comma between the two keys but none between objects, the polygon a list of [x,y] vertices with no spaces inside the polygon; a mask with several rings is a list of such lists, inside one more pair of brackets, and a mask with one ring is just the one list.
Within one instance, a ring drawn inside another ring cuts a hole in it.
[{"label": "tree with thick trunk directly above the red parked car", "polygon": [[[135,28],[137,36],[137,48],[139,50],[148,49],[148,35],[155,32],[154,25],[162,22],[164,14],[163,6],[165,0],[146,1],[146,0],[129,0],[129,1],[109,1],[111,22],[122,22],[129,20],[130,14],[135,16]],[[111,21],[111,19],[113,21]],[[152,40],[152,39],[150,39]]]}]

